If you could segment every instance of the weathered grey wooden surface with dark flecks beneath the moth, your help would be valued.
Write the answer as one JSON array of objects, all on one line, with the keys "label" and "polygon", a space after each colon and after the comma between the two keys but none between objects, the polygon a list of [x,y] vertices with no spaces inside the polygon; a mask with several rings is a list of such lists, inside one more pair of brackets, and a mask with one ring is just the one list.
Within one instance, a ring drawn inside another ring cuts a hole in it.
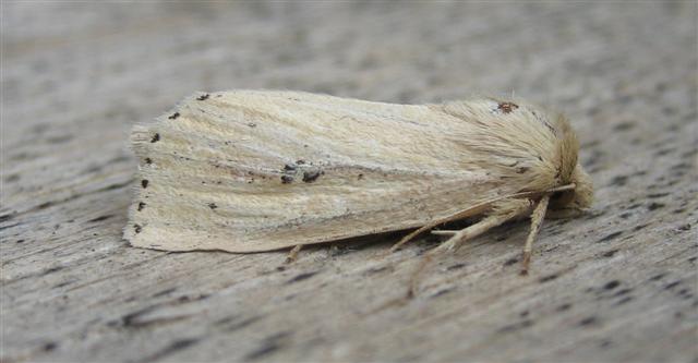
[{"label": "weathered grey wooden surface with dark flecks beneath the moth", "polygon": [[[2,362],[696,362],[696,2],[2,2]],[[597,185],[425,271],[423,238],[285,253],[121,239],[131,125],[194,90],[565,110]]]}]

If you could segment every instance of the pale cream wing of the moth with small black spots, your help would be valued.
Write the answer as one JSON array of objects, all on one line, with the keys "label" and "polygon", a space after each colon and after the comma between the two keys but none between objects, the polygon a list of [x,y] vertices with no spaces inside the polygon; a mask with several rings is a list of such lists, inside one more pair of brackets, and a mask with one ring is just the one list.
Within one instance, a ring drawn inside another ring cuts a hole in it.
[{"label": "pale cream wing of the moth with small black spots", "polygon": [[469,128],[433,106],[197,94],[134,128],[140,183],[124,238],[272,251],[416,228],[520,190],[469,162]]}]

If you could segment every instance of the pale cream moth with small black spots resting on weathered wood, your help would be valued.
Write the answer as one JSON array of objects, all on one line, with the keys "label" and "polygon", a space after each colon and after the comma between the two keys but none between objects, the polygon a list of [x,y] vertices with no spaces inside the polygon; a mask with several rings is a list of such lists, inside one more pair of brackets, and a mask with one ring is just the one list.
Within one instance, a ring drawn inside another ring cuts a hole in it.
[{"label": "pale cream moth with small black spots resting on weathered wood", "polygon": [[[438,251],[590,206],[567,119],[519,99],[394,105],[300,92],[197,93],[137,124],[124,238],[165,251],[265,252],[473,218]],[[550,210],[550,211],[549,211]]]}]

